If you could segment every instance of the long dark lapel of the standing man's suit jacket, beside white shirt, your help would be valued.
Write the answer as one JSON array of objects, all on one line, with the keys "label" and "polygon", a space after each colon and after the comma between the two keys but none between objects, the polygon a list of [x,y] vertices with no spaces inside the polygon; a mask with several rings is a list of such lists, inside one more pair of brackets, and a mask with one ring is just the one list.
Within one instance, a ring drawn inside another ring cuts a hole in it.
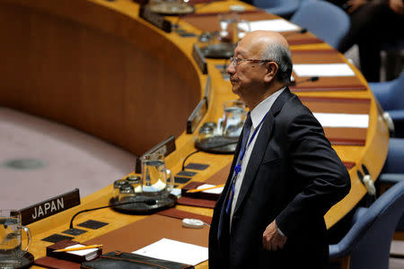
[{"label": "long dark lapel of the standing man's suit jacket, beside white shirt", "polygon": [[291,99],[294,96],[293,93],[289,91],[289,88],[286,87],[285,91],[283,91],[278,97],[272,107],[269,109],[268,115],[262,123],[261,129],[259,130],[259,135],[254,144],[254,148],[250,155],[250,161],[247,165],[247,170],[245,171],[244,178],[242,179],[242,187],[240,189],[239,196],[237,198],[237,203],[234,208],[234,213],[237,213],[240,208],[242,201],[247,195],[248,190],[254,179],[256,178],[257,171],[259,169],[259,164],[264,157],[264,154],[267,150],[267,145],[269,143],[269,139],[271,137],[272,128],[275,122],[275,117],[279,113],[280,109],[284,106],[285,101]]}]

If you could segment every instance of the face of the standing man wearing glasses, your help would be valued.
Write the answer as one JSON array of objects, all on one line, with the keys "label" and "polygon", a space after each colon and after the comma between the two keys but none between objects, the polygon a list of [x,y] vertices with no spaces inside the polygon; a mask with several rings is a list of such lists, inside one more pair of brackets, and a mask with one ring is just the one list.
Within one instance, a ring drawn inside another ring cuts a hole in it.
[{"label": "face of the standing man wearing glasses", "polygon": [[[253,46],[250,36],[246,36],[234,49],[233,57],[238,59],[261,59],[261,51],[262,48],[257,45]],[[266,65],[261,65],[257,62],[239,61],[237,66],[235,66],[235,63],[231,63],[226,72],[230,74],[230,82],[233,85],[232,91],[240,96],[242,100],[248,94],[254,94],[255,90],[265,87]]]}]

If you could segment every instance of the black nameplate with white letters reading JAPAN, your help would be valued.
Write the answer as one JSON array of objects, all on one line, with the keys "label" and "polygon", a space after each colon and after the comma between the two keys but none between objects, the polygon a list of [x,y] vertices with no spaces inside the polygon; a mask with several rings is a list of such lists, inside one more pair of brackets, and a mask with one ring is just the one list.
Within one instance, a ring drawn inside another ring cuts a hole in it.
[{"label": "black nameplate with white letters reading JAPAN", "polygon": [[79,189],[50,198],[44,202],[25,207],[21,210],[22,225],[48,218],[80,204]]}]

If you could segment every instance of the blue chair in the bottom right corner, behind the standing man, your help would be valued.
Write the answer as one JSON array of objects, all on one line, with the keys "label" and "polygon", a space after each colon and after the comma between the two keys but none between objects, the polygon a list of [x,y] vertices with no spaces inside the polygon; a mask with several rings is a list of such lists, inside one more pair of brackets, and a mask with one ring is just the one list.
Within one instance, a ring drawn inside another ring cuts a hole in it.
[{"label": "blue chair in the bottom right corner, behind the standing man", "polygon": [[401,181],[369,208],[356,210],[347,235],[338,244],[329,245],[329,257],[338,258],[341,269],[388,269],[392,235],[403,211]]}]

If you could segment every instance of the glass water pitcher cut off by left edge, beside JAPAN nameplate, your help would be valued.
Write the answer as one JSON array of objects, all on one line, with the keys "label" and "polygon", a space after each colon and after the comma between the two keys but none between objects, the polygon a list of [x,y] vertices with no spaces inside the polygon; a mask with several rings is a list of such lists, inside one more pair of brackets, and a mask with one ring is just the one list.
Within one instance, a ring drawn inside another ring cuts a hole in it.
[{"label": "glass water pitcher cut off by left edge, beside JAPAN nameplate", "polygon": [[[27,233],[27,247],[22,250],[22,230]],[[0,268],[16,268],[27,253],[31,231],[22,226],[21,213],[13,209],[0,209]]]}]

